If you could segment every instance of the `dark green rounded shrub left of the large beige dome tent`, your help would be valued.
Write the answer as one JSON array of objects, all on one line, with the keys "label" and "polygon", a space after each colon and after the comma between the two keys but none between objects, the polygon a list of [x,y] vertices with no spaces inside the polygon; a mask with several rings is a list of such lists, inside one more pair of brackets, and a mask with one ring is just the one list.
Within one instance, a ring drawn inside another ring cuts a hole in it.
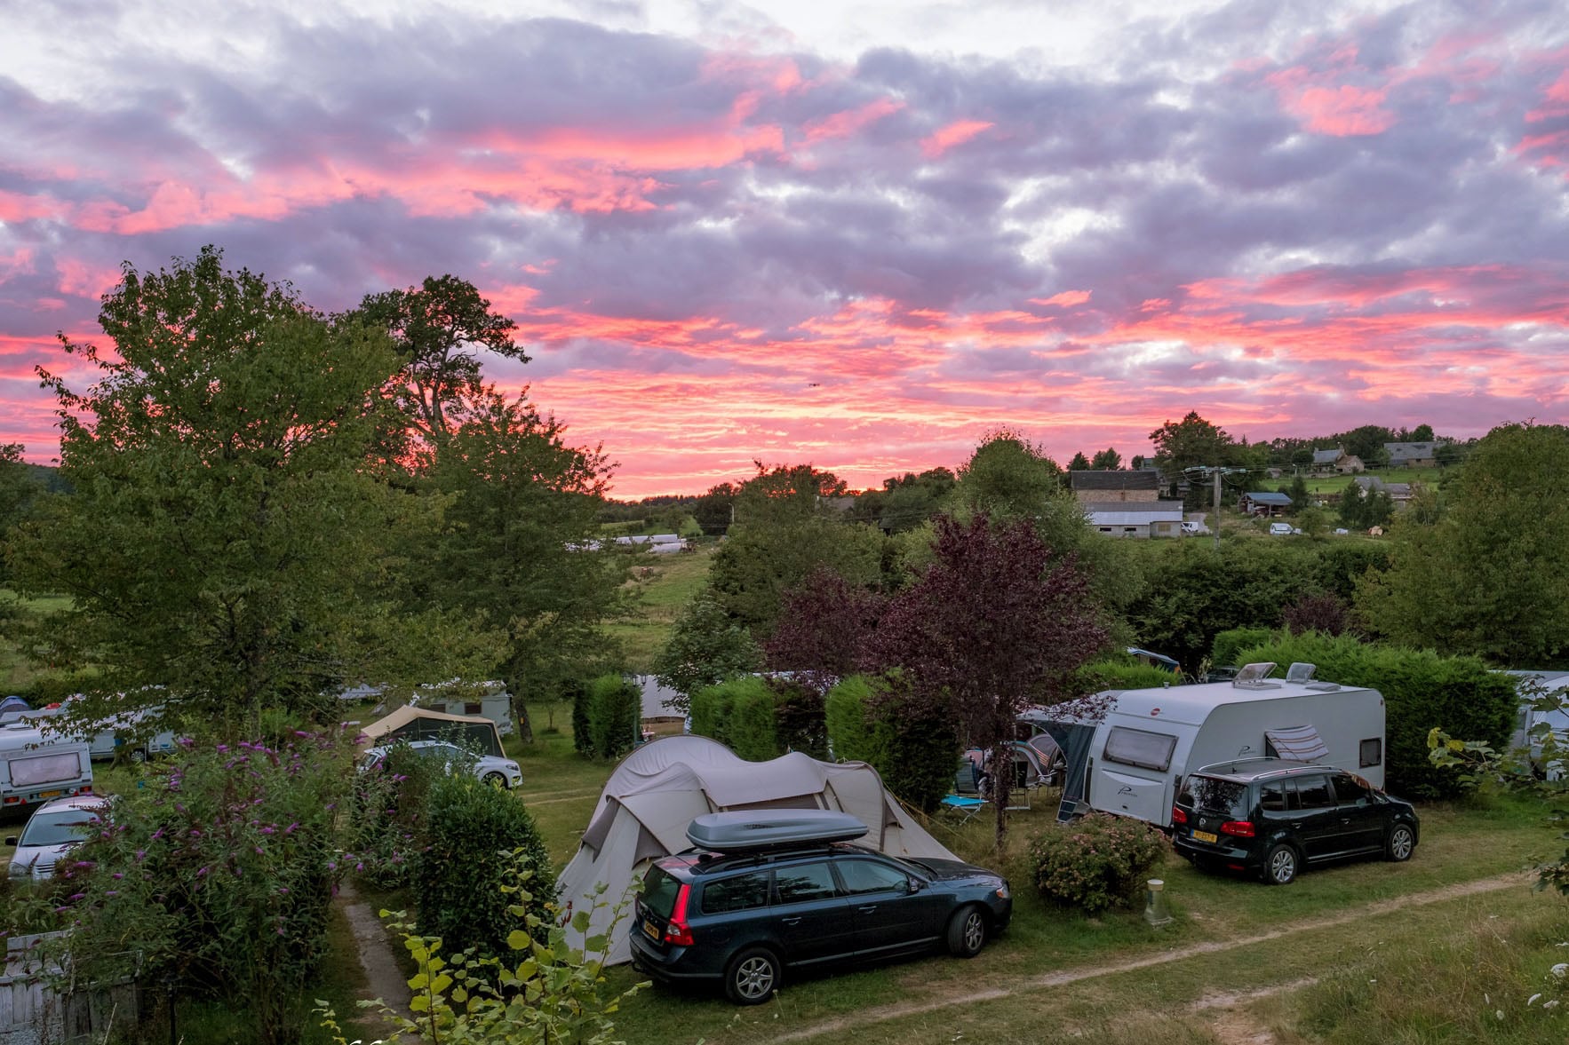
[{"label": "dark green rounded shrub left of the large beige dome tent", "polygon": [[[538,885],[554,876],[533,817],[510,792],[469,774],[436,778],[427,802],[425,847],[414,872],[419,932],[441,937],[450,951],[507,954],[516,916],[507,910],[502,887],[511,887],[518,868],[535,882],[529,915],[544,918],[555,899],[552,890]],[[518,854],[516,860],[510,854]]]}]

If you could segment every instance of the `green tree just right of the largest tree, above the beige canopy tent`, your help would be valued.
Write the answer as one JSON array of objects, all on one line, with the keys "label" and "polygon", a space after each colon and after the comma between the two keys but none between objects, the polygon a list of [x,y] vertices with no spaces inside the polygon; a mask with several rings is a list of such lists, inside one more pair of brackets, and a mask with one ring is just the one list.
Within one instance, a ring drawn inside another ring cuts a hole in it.
[{"label": "green tree just right of the largest tree, above the beige canopy tent", "polygon": [[483,389],[461,416],[430,471],[446,512],[424,587],[505,631],[499,670],[527,733],[524,701],[557,695],[606,651],[626,557],[592,538],[613,466],[601,447],[570,446],[522,394]]}]

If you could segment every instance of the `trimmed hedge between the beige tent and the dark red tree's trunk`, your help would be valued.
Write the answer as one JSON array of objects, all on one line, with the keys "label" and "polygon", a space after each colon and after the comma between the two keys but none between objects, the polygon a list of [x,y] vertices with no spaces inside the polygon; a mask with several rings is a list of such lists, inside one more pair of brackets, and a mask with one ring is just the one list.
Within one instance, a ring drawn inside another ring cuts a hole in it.
[{"label": "trimmed hedge between the beige tent and the dark red tree's trunk", "polygon": [[916,712],[896,683],[850,676],[828,690],[835,758],[869,763],[883,786],[930,813],[954,788],[959,737],[938,714]]}]

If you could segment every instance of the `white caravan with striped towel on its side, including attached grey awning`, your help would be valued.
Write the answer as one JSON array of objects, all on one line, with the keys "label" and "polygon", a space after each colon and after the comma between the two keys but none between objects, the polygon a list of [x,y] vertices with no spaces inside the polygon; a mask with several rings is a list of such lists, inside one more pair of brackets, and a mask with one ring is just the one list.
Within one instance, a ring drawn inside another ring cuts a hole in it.
[{"label": "white caravan with striped towel on its side, including attached grey awning", "polygon": [[[1170,827],[1181,777],[1238,758],[1291,758],[1335,766],[1384,786],[1384,697],[1376,689],[1312,681],[1293,664],[1249,664],[1230,683],[1105,694],[1103,719],[1026,720],[1051,733],[1068,761],[1064,808],[1100,810]],[[1061,734],[1061,736],[1059,736]],[[1076,756],[1076,758],[1075,758]]]}]

